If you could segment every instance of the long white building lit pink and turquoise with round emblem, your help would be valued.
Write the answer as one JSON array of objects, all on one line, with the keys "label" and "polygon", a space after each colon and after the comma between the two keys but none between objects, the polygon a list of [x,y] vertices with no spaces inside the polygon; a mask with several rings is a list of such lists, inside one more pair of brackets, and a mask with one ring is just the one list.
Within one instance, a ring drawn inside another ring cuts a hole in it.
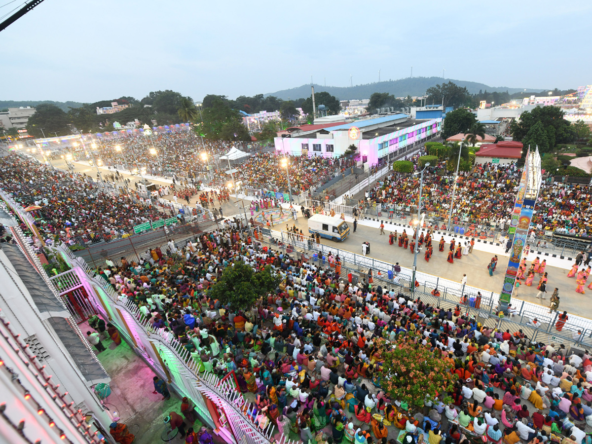
[{"label": "long white building lit pink and turquoise with round emblem", "polygon": [[275,150],[284,155],[339,157],[353,145],[369,165],[384,165],[410,155],[440,133],[442,118],[414,120],[406,114],[358,120],[275,137]]}]

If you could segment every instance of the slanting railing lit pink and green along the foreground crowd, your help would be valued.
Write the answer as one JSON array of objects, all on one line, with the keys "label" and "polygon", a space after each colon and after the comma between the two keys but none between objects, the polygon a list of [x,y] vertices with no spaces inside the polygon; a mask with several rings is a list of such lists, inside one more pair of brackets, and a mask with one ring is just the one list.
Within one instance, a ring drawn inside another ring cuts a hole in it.
[{"label": "slanting railing lit pink and green along the foreground crowd", "polygon": [[[213,424],[214,420],[202,395],[214,403],[220,414],[219,432],[226,440],[237,444],[267,444],[275,440],[274,424],[269,422],[265,423],[265,427],[260,427],[259,422],[256,422],[260,416],[258,407],[247,403],[233,383],[234,378],[220,379],[213,373],[200,373],[200,365],[194,360],[192,353],[176,340],[172,333],[165,332],[164,329],[154,329],[133,301],[127,298],[122,300],[110,284],[96,275],[83,260],[76,258],[67,246],[60,244],[53,249],[60,253],[67,263],[76,267],[81,281],[95,290],[99,299],[95,301],[96,308],[119,327],[127,342],[130,345],[138,344],[137,352],[153,367],[158,368],[159,361],[162,362],[162,374],[170,375],[178,391],[194,401],[201,416]],[[151,355],[150,348],[144,346],[150,343],[158,356]],[[294,443],[282,435],[279,444]]]}]

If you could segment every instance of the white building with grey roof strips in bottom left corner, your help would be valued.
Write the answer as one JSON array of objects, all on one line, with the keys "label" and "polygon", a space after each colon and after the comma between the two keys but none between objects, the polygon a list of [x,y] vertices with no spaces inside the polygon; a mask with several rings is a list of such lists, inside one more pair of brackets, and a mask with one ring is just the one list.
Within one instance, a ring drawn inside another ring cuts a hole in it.
[{"label": "white building with grey roof strips in bottom left corner", "polygon": [[[18,228],[11,231],[17,244],[3,243],[0,249],[0,330],[2,336],[10,332],[8,340],[0,340],[5,363],[0,366],[0,381],[7,379],[8,361],[19,380],[0,382],[2,400],[9,402],[5,420],[19,424],[24,419],[22,431],[28,442],[62,442],[62,433],[63,442],[98,442],[95,430],[108,433],[111,418],[91,387],[107,384],[110,378],[25,236]],[[14,353],[17,342],[23,350],[18,354]],[[93,423],[99,428],[90,430]],[[0,436],[8,436],[10,429],[0,420]]]}]

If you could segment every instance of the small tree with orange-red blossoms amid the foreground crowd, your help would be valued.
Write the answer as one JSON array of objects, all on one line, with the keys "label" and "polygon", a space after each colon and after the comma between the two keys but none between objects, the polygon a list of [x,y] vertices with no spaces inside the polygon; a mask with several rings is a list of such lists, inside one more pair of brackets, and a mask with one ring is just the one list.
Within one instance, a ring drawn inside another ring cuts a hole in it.
[{"label": "small tree with orange-red blossoms amid the foreground crowd", "polygon": [[381,387],[393,400],[407,404],[410,411],[422,410],[424,401],[432,401],[442,395],[442,402],[449,404],[448,392],[458,378],[446,368],[445,361],[437,358],[429,344],[422,345],[418,334],[400,334],[396,346],[385,339],[377,339],[382,352]]}]

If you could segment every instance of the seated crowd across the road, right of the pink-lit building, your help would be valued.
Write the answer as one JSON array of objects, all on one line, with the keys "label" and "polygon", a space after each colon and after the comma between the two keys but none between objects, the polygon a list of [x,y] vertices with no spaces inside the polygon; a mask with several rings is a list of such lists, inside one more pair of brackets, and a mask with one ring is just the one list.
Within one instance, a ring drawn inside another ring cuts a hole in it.
[{"label": "seated crowd across the road, right of the pink-lit building", "polygon": [[[416,167],[417,168],[417,167]],[[509,227],[522,169],[516,163],[475,165],[470,172],[459,173],[453,221],[496,227]],[[365,205],[385,208],[409,208],[417,205],[419,175],[392,173],[365,193]],[[424,173],[422,209],[433,217],[448,220],[454,179],[437,172]],[[535,205],[532,226],[544,230],[590,236],[592,224],[592,187],[553,182],[544,184]],[[362,203],[362,202],[361,202]]]}]

